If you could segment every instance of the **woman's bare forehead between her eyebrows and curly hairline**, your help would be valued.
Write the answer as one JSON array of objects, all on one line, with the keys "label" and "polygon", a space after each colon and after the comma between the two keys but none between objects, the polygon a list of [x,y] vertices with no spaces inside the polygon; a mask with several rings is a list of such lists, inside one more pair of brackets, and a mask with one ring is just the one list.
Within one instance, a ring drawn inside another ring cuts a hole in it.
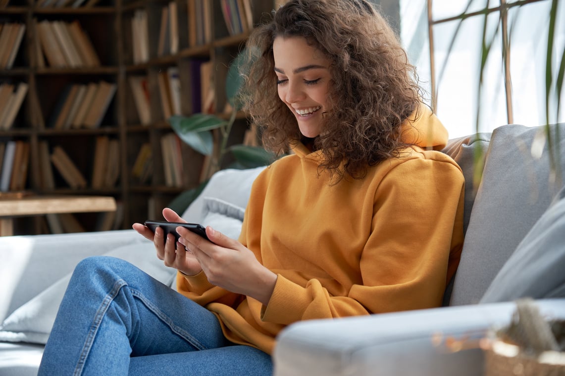
[{"label": "woman's bare forehead between her eyebrows and curly hairline", "polygon": [[273,57],[275,67],[280,69],[294,69],[306,65],[322,65],[329,67],[329,59],[311,46],[303,37],[276,37],[273,41]]}]

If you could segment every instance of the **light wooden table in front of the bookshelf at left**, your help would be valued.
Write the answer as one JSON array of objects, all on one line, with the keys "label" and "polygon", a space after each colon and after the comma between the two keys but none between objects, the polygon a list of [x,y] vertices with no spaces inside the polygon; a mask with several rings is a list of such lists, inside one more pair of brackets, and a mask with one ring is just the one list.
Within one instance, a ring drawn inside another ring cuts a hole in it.
[{"label": "light wooden table in front of the bookshelf at left", "polygon": [[115,210],[116,200],[107,196],[0,196],[0,236],[14,234],[16,216]]}]

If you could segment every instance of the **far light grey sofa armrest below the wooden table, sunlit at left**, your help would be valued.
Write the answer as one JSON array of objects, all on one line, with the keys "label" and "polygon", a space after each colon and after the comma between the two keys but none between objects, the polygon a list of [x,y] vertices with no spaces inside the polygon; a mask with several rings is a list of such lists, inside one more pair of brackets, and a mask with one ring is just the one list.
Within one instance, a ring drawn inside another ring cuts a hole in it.
[{"label": "far light grey sofa armrest below the wooden table, sunlit at left", "polygon": [[0,237],[0,322],[80,260],[147,242],[132,230]]}]

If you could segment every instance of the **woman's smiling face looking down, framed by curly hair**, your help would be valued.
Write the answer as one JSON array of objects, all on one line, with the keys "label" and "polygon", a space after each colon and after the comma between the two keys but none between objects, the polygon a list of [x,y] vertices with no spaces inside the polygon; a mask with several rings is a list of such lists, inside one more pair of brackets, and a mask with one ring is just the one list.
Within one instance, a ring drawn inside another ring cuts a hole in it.
[{"label": "woman's smiling face looking down, framed by curly hair", "polygon": [[276,37],[273,42],[279,98],[297,119],[300,132],[316,137],[328,105],[330,61],[302,37]]}]

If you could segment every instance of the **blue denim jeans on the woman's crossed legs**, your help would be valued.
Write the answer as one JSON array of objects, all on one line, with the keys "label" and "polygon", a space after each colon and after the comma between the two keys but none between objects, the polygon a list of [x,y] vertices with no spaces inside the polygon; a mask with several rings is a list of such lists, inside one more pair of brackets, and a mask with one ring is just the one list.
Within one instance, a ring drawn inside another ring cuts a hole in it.
[{"label": "blue denim jeans on the woman's crossed legs", "polygon": [[117,258],[82,260],[41,361],[45,375],[270,375],[271,357],[227,340],[206,308]]}]

